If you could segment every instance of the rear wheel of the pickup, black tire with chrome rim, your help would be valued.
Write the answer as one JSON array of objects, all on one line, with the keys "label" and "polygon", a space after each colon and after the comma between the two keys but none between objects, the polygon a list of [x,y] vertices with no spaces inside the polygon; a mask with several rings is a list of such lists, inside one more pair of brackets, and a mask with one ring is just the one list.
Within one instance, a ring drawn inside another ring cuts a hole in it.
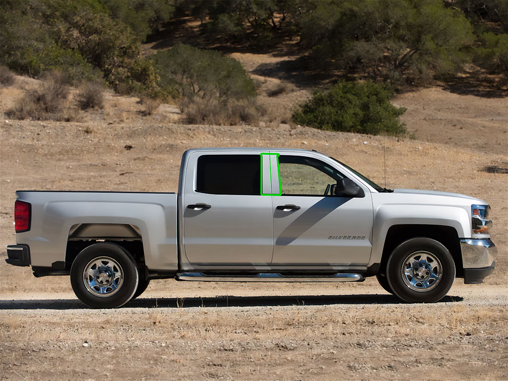
[{"label": "rear wheel of the pickup, black tire with chrome rim", "polygon": [[[90,274],[85,275],[85,269]],[[138,280],[138,268],[130,253],[113,243],[99,242],[85,247],[71,267],[72,289],[91,308],[122,306],[134,296]]]}]

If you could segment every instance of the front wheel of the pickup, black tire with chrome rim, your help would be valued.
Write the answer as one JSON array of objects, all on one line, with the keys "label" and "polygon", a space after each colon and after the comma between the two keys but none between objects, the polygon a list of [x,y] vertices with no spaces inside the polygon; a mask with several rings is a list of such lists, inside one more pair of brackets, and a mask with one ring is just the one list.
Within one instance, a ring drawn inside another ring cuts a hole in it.
[{"label": "front wheel of the pickup, black tire with chrome rim", "polygon": [[[403,275],[404,271],[407,273]],[[400,299],[408,303],[433,303],[450,291],[455,280],[455,263],[450,251],[436,240],[411,238],[393,250],[386,275],[390,288]]]}]

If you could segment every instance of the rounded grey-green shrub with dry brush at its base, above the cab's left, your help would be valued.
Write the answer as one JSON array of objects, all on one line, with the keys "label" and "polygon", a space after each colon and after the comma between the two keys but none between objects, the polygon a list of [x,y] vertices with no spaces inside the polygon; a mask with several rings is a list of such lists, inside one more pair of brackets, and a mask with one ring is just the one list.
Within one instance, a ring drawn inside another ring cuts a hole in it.
[{"label": "rounded grey-green shrub with dry brush at its base, above the cab's left", "polygon": [[160,86],[177,91],[180,109],[190,124],[255,123],[254,82],[236,59],[217,51],[178,44],[152,56]]}]

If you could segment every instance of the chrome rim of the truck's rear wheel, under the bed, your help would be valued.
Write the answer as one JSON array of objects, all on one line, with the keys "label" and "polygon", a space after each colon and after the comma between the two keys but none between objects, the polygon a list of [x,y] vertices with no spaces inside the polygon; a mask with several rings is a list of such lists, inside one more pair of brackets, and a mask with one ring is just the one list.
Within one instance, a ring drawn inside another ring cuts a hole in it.
[{"label": "chrome rim of the truck's rear wheel, under the bed", "polygon": [[92,259],[83,271],[83,282],[89,293],[105,298],[115,294],[123,284],[123,270],[114,259]]}]

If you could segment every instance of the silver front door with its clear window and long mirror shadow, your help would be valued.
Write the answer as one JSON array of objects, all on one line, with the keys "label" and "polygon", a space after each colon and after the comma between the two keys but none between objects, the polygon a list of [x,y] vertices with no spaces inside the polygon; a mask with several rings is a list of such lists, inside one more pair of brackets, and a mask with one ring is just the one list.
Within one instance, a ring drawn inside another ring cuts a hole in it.
[{"label": "silver front door with its clear window and long mirror shadow", "polygon": [[361,198],[331,196],[329,185],[346,176],[318,157],[279,156],[272,266],[365,266],[371,251],[370,192],[365,188]]}]

